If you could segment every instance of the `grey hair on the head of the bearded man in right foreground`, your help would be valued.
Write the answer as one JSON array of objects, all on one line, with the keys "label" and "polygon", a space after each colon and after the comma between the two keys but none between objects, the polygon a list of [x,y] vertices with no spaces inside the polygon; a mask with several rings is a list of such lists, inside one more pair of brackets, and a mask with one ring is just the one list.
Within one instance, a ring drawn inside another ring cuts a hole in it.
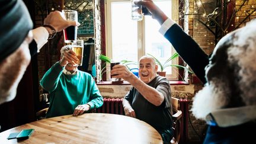
[{"label": "grey hair on the head of the bearded man in right foreground", "polygon": [[236,32],[232,49],[228,49],[228,61],[235,67],[237,85],[245,105],[256,104],[256,20],[252,20]]}]

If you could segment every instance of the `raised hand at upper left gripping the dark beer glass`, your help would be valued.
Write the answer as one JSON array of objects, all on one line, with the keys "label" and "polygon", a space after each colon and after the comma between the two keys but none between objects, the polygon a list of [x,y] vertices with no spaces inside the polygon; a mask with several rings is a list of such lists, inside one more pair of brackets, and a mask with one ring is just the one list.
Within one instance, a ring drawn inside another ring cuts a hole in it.
[{"label": "raised hand at upper left gripping the dark beer glass", "polygon": [[67,21],[60,11],[50,12],[49,15],[44,19],[44,24],[52,25],[57,32],[64,30],[65,28],[73,25],[78,26],[79,23],[76,21]]}]

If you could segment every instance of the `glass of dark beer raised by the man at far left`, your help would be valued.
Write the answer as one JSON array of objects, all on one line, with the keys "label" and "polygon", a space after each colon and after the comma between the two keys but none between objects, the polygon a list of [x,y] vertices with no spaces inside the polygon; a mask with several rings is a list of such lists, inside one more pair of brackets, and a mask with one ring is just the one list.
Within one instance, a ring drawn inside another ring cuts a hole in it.
[{"label": "glass of dark beer raised by the man at far left", "polygon": [[[66,20],[68,21],[76,21],[78,22],[78,12],[73,10],[62,10],[62,13]],[[69,26],[65,30],[63,30],[64,33],[64,42],[65,43],[73,43],[76,41],[77,37],[77,26]]]}]

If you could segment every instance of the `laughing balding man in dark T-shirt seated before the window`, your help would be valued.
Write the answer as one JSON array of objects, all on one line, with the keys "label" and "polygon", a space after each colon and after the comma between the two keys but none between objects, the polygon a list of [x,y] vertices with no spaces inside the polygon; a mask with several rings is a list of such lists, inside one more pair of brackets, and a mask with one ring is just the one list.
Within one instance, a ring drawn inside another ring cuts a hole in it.
[{"label": "laughing balding man in dark T-shirt seated before the window", "polygon": [[157,70],[155,59],[143,56],[139,60],[139,78],[124,65],[114,66],[111,75],[133,86],[123,99],[126,116],[150,124],[169,143],[173,137],[171,87],[167,78],[156,74]]}]

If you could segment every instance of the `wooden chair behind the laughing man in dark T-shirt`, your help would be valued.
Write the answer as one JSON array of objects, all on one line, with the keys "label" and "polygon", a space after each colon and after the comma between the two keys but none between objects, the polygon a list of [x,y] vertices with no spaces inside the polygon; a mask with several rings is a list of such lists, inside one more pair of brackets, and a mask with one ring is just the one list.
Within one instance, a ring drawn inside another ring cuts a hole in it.
[{"label": "wooden chair behind the laughing man in dark T-shirt", "polygon": [[172,129],[174,130],[174,137],[171,140],[172,144],[178,144],[180,142],[181,137],[181,117],[182,117],[182,111],[180,110],[180,100],[178,98],[172,97],[172,120],[173,120],[173,126]]}]

